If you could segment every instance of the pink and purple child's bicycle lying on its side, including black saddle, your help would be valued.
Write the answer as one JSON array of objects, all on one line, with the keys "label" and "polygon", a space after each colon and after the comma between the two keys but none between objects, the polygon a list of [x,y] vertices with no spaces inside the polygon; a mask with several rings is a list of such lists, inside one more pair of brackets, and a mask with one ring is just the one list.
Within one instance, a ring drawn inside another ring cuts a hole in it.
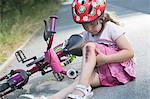
[{"label": "pink and purple child's bicycle lying on its side, including black saddle", "polygon": [[[55,15],[50,17],[49,29],[47,21],[44,20],[45,29],[43,37],[47,43],[47,49],[43,56],[39,58],[34,56],[27,59],[22,50],[15,53],[18,62],[25,63],[31,61],[26,66],[33,67],[26,71],[23,69],[11,70],[7,75],[1,77],[0,82],[2,83],[0,84],[0,97],[17,89],[23,89],[23,86],[28,83],[30,76],[36,72],[41,72],[42,75],[53,72],[54,77],[58,81],[62,81],[65,75],[71,79],[76,78],[78,71],[74,69],[65,70],[63,66],[72,63],[76,56],[82,56],[82,36],[78,34],[71,35],[66,42],[51,48],[54,34],[56,33],[56,19],[58,19],[58,17]],[[62,59],[64,56],[66,58]],[[50,68],[50,70],[48,70],[48,68]]]}]

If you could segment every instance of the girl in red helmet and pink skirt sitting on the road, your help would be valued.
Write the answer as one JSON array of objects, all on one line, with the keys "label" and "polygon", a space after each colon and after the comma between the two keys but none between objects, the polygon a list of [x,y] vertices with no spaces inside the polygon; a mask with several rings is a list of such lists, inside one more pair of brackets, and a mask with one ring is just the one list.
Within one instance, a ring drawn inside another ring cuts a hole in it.
[{"label": "girl in red helmet and pink skirt sitting on the road", "polygon": [[116,86],[135,79],[134,52],[126,32],[104,13],[105,7],[105,0],[73,1],[73,19],[86,30],[82,33],[85,45],[81,75],[48,99],[87,99],[94,87]]}]

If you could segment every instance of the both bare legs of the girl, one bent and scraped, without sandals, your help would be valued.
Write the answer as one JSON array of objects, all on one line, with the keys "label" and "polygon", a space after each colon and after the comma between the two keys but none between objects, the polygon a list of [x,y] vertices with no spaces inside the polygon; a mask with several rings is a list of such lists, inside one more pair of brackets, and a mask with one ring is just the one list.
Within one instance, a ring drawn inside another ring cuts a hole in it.
[{"label": "both bare legs of the girl, one bent and scraped, without sandals", "polygon": [[[73,92],[75,85],[78,83],[91,85],[92,87],[100,86],[98,74],[94,71],[96,65],[95,44],[87,43],[83,48],[83,60],[81,76],[71,85],[62,89],[58,93],[48,96],[48,99],[64,99],[69,93]],[[82,95],[80,91],[75,90],[73,93]]]}]

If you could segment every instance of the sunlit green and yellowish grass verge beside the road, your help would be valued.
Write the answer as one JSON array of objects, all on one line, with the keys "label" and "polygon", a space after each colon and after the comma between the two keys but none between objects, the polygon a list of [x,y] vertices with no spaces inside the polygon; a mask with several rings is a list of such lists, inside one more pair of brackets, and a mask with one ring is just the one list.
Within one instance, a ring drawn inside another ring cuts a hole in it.
[{"label": "sunlit green and yellowish grass verge beside the road", "polygon": [[50,0],[23,9],[23,14],[13,11],[6,15],[0,24],[0,64],[14,52],[23,42],[43,25],[43,19],[54,14],[60,4]]}]

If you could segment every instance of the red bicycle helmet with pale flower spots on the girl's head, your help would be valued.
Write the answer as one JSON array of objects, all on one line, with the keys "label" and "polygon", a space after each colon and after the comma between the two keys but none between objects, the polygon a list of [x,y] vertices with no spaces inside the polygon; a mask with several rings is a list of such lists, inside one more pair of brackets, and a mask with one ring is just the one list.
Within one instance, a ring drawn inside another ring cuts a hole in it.
[{"label": "red bicycle helmet with pale flower spots on the girl's head", "polygon": [[76,23],[86,23],[97,19],[106,8],[106,0],[74,0],[72,16]]}]

